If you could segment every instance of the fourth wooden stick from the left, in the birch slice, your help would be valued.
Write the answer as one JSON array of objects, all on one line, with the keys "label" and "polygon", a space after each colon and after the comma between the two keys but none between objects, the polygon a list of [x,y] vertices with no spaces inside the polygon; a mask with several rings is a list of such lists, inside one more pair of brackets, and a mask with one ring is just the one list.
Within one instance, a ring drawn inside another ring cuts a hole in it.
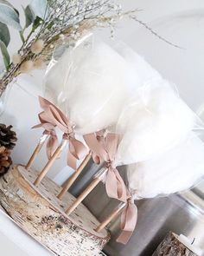
[{"label": "fourth wooden stick from the left, in the birch slice", "polygon": [[72,213],[76,207],[78,207],[80,205],[80,203],[82,202],[82,200],[84,200],[86,198],[86,196],[92,192],[92,189],[94,187],[96,187],[99,182],[101,181],[102,176],[105,174],[105,170],[103,171],[99,171],[99,173],[95,176],[94,180],[92,181],[92,183],[86,187],[86,189],[80,194],[80,196],[73,202],[73,204],[67,208],[66,212],[67,215],[69,215],[70,213]]}]

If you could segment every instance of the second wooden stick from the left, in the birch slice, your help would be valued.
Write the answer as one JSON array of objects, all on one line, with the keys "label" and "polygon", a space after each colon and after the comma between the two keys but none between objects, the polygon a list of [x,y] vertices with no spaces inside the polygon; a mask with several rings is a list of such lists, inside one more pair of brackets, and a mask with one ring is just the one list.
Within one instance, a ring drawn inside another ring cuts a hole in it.
[{"label": "second wooden stick from the left, in the birch slice", "polygon": [[41,170],[41,173],[38,175],[37,179],[34,181],[34,185],[38,186],[41,182],[41,180],[45,177],[45,175],[48,173],[49,168],[54,164],[54,161],[57,159],[57,157],[61,154],[62,149],[66,146],[67,140],[61,141],[61,145],[54,151],[54,154],[49,159],[45,167]]}]

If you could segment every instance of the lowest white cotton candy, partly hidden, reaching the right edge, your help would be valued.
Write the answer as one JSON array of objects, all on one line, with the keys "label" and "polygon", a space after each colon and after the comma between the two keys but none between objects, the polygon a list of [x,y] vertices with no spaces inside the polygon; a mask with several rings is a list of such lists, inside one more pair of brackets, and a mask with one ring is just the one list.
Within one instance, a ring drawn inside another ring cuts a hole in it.
[{"label": "lowest white cotton candy, partly hidden, reaching the right edge", "polygon": [[204,175],[204,144],[195,135],[182,145],[149,161],[128,167],[129,187],[139,198],[186,190]]}]

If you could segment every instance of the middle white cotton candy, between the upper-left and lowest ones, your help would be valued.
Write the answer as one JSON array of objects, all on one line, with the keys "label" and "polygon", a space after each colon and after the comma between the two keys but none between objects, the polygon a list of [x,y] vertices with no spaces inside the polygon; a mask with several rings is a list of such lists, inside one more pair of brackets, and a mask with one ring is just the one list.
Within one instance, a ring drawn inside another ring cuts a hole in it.
[{"label": "middle white cotton candy, between the upper-left and lowest ones", "polygon": [[118,120],[122,141],[116,161],[131,164],[162,154],[184,141],[195,122],[194,112],[169,82],[152,80],[138,90]]}]

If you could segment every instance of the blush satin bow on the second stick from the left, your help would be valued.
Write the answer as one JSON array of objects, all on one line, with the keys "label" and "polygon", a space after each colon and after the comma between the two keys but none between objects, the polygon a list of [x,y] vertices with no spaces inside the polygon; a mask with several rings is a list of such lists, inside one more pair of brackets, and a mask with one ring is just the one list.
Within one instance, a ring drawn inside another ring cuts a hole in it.
[{"label": "blush satin bow on the second stick from the left", "polygon": [[[63,139],[69,141],[69,150],[67,153],[67,165],[76,169],[77,160],[85,157],[88,153],[87,148],[81,142],[75,139],[75,135],[73,132],[73,128],[70,125],[70,122],[67,120],[67,117],[61,112],[61,110],[54,106],[48,100],[39,97],[39,102],[41,108],[43,108],[43,112],[39,114],[39,119],[41,124],[36,127],[43,127],[48,130],[49,127],[52,128],[60,128],[61,131],[64,133]],[[51,146],[53,146],[52,141]]]}]

